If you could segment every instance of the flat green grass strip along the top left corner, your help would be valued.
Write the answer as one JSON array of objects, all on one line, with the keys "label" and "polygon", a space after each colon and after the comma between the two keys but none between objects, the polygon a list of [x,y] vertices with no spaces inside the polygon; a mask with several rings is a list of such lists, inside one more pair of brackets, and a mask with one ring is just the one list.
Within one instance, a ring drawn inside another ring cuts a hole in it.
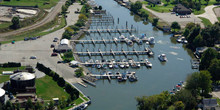
[{"label": "flat green grass strip along the top left corner", "polygon": [[12,6],[38,6],[39,8],[51,8],[57,4],[59,0],[10,0],[3,1],[0,5],[12,5]]}]

